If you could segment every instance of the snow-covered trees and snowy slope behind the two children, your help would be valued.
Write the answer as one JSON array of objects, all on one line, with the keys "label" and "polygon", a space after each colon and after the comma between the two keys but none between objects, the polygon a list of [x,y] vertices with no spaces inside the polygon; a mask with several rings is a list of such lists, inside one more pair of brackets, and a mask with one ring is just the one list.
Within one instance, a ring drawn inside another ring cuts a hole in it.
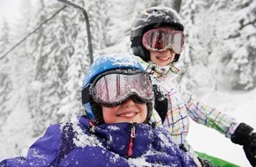
[{"label": "snow-covered trees and snowy slope behind the two children", "polygon": [[[75,0],[90,19],[94,56],[126,53],[139,11],[169,0]],[[256,128],[256,1],[186,0],[185,46],[177,78],[201,101]],[[46,127],[82,114],[80,87],[89,65],[80,11],[53,0],[0,0],[0,161],[26,156]],[[191,121],[192,122],[192,121]],[[244,150],[192,122],[200,152],[250,166]]]}]

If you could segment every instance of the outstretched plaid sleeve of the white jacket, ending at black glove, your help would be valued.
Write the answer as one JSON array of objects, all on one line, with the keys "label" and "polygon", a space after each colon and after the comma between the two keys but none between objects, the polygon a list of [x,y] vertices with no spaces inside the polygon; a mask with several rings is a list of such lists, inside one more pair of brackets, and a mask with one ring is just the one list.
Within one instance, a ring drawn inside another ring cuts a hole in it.
[{"label": "outstretched plaid sleeve of the white jacket, ending at black glove", "polygon": [[221,134],[231,138],[239,123],[227,114],[221,113],[217,109],[201,103],[193,94],[185,92],[179,87],[179,91],[184,99],[184,105],[192,120],[215,128]]}]

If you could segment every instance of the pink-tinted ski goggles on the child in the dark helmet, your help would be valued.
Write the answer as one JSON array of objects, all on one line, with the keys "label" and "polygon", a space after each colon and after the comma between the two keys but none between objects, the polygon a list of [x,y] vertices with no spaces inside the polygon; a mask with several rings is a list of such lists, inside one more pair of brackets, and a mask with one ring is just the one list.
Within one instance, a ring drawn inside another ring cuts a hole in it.
[{"label": "pink-tinted ski goggles on the child in the dark helmet", "polygon": [[167,49],[181,54],[184,45],[184,34],[182,31],[170,30],[169,28],[155,28],[144,33],[142,44],[149,51],[163,52]]}]

